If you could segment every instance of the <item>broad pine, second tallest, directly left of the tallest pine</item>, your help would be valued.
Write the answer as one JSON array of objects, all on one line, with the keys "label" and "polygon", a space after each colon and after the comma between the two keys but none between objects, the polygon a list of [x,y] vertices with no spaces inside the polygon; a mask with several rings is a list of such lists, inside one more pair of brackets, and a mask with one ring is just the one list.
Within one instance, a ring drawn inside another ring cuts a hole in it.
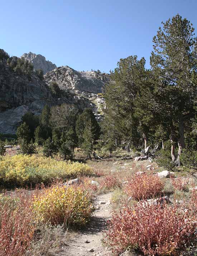
[{"label": "broad pine, second tallest, directly left of the tallest pine", "polygon": [[121,139],[129,148],[131,142],[139,142],[139,120],[134,115],[134,103],[146,79],[144,58],[120,59],[111,79],[110,85],[105,87],[105,129],[116,134],[116,141]]}]

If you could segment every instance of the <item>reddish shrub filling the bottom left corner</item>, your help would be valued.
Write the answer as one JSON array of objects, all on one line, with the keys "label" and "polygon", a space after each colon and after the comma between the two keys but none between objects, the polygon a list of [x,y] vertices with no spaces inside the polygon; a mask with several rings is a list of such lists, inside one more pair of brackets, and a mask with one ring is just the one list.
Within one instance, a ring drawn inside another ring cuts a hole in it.
[{"label": "reddish shrub filling the bottom left corner", "polygon": [[33,239],[34,224],[27,201],[0,196],[0,255],[23,256]]}]

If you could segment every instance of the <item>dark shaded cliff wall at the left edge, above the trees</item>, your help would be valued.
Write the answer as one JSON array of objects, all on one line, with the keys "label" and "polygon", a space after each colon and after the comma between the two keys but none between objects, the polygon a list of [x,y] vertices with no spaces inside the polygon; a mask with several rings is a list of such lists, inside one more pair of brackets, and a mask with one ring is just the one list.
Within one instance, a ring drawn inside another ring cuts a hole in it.
[{"label": "dark shaded cliff wall at the left edge, above the trees", "polygon": [[21,117],[28,111],[42,112],[44,105],[53,105],[48,86],[33,74],[31,81],[17,75],[0,62],[0,132],[15,133]]}]

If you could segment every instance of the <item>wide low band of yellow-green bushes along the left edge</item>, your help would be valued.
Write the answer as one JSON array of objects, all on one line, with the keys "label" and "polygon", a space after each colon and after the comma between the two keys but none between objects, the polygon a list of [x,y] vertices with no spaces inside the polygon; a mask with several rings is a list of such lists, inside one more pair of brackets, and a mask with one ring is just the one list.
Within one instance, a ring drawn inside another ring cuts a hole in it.
[{"label": "wide low band of yellow-green bushes along the left edge", "polygon": [[0,185],[6,187],[29,186],[53,180],[65,180],[92,174],[91,168],[79,162],[62,162],[36,155],[5,156],[0,160]]}]

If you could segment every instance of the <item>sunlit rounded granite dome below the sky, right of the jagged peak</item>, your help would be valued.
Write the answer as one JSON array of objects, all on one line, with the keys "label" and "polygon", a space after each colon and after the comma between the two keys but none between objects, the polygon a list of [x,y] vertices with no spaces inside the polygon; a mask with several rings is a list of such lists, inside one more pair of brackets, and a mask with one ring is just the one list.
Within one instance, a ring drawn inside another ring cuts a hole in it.
[{"label": "sunlit rounded granite dome below the sky, right of the jagged peak", "polygon": [[76,93],[102,93],[104,85],[109,82],[109,76],[96,71],[78,72],[71,67],[57,67],[44,76],[47,84],[57,82],[62,90],[72,90]]}]

